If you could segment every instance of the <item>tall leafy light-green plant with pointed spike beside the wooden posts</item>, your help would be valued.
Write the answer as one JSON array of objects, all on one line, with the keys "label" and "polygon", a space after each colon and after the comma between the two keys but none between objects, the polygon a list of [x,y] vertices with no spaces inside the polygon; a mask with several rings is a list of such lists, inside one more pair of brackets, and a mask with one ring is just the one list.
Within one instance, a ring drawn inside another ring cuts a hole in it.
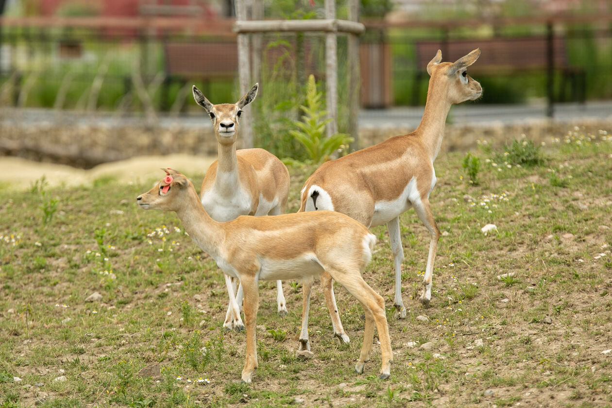
[{"label": "tall leafy light-green plant with pointed spike beside the wooden posts", "polygon": [[294,121],[293,124],[298,130],[289,132],[304,145],[308,158],[315,163],[321,163],[336,150],[345,149],[353,141],[346,133],[335,133],[329,138],[324,136],[325,126],[331,119],[324,119],[327,111],[323,110],[322,96],[323,94],[316,90],[315,76],[308,76],[305,105],[300,106],[304,113],[302,121]]}]

